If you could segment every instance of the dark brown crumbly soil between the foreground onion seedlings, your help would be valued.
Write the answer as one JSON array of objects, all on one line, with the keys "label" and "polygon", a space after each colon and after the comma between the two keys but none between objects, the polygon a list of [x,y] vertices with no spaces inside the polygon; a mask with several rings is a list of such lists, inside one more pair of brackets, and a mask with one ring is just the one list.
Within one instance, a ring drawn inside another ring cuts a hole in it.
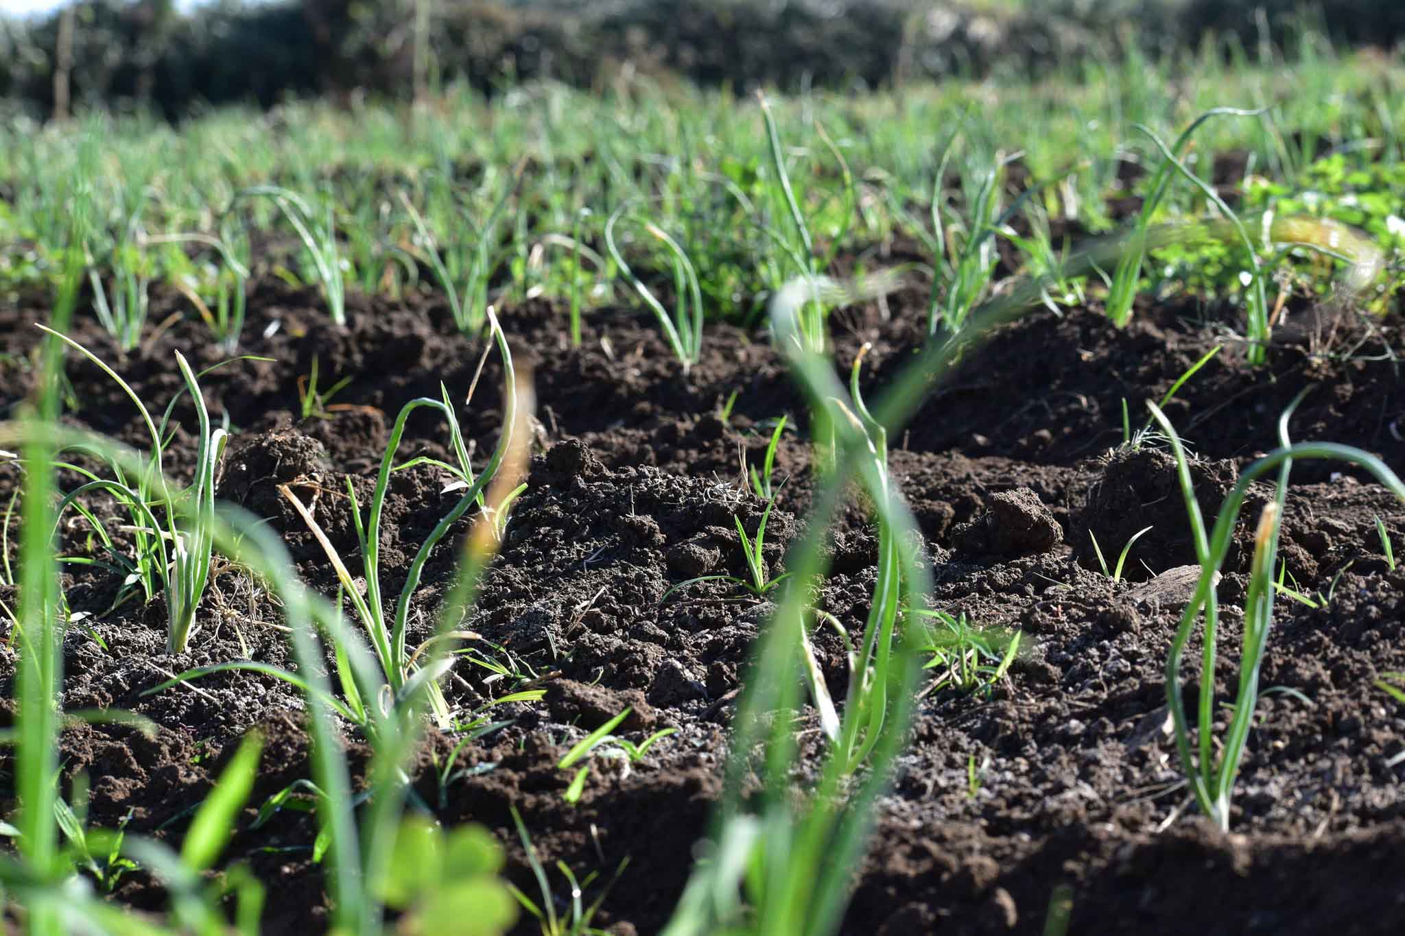
[{"label": "dark brown crumbly soil between the foreground onion seedlings", "polygon": [[[152,320],[181,302],[155,295]],[[414,397],[437,399],[443,383],[479,462],[502,421],[496,358],[464,403],[483,342],[454,333],[441,303],[351,296],[348,305],[343,330],[315,292],[260,281],[242,351],[273,362],[237,362],[201,379],[214,418],[228,418],[233,432],[221,497],[267,518],[301,575],[329,595],[336,580],[322,547],[278,486],[291,484],[313,504],[360,574],[346,481],[368,497],[399,408]],[[30,387],[37,345],[30,323],[44,314],[42,303],[0,310],[0,415]],[[1121,441],[1121,401],[1134,428],[1141,425],[1142,401],[1161,399],[1225,341],[1220,314],[1190,303],[1146,305],[1118,331],[1093,312],[1031,313],[971,352],[892,439],[894,476],[933,559],[934,606],[1017,627],[1026,650],[988,692],[924,688],[912,742],[854,880],[846,933],[1038,933],[1055,894],[1071,901],[1069,932],[1405,929],[1392,860],[1405,848],[1405,763],[1388,766],[1405,749],[1405,706],[1374,685],[1405,671],[1405,566],[1388,570],[1374,518],[1405,553],[1405,509],[1360,473],[1326,463],[1294,469],[1281,556],[1316,606],[1277,602],[1262,672],[1269,693],[1249,738],[1235,832],[1197,818],[1179,782],[1163,669],[1184,599],[1183,573],[1175,570],[1194,551],[1169,456],[1155,445],[1110,450]],[[836,313],[837,365],[847,369],[858,347],[873,342],[864,386],[877,394],[920,344],[923,316],[913,293]],[[1266,368],[1246,366],[1229,341],[1166,407],[1200,459],[1194,479],[1207,515],[1238,472],[1274,446],[1279,413],[1309,385],[1291,424],[1295,439],[1361,446],[1405,469],[1398,314],[1324,324],[1302,310],[1300,319],[1308,324],[1283,331],[1287,341],[1272,348]],[[624,310],[592,313],[580,348],[566,342],[562,309],[527,303],[504,309],[502,320],[537,393],[535,456],[465,626],[497,644],[493,657],[514,661],[547,695],[493,709],[493,720],[510,724],[464,745],[445,783],[438,777],[458,738],[431,733],[416,790],[445,824],[495,829],[509,874],[534,895],[509,807],[521,811],[548,866],[561,859],[577,876],[599,870],[607,881],[628,857],[597,922],[615,933],[655,933],[690,871],[688,845],[705,835],[739,678],[770,612],[764,599],[725,582],[670,589],[698,575],[746,574],[733,518],[754,532],[763,504],[739,483],[740,455],[759,466],[770,421],[788,415],[801,432],[787,432],[780,445],[776,479],[785,484],[767,525],[766,560],[780,571],[812,490],[804,406],[763,331],[710,327],[702,362],[684,375],[651,323]],[[74,334],[157,413],[181,386],[174,349],[197,369],[221,359],[194,317],[125,356],[86,316]],[[323,387],[350,382],[325,413],[301,418],[298,379],[313,361]],[[66,420],[146,442],[131,401],[97,368],[70,355],[67,377],[76,408]],[[729,418],[719,418],[733,394]],[[427,413],[409,420],[400,460],[448,457],[445,427]],[[174,420],[183,428],[166,464],[181,476],[194,460],[188,399]],[[77,483],[69,473],[60,480]],[[426,466],[392,476],[382,542],[389,601],[417,544],[454,504],[444,483]],[[15,484],[14,469],[0,467],[4,500]],[[1221,702],[1238,682],[1249,537],[1266,494],[1250,495],[1218,587]],[[101,500],[93,509],[115,514]],[[1109,580],[1090,532],[1114,561],[1144,526],[1152,529],[1132,546],[1123,581]],[[412,640],[429,633],[465,530],[466,521],[430,557]],[[89,532],[66,515],[65,553],[94,554]],[[861,505],[850,505],[833,539],[822,602],[853,631],[867,613],[877,559]],[[282,810],[253,828],[267,797],[309,776],[301,699],[250,672],[146,695],[195,665],[292,665],[275,603],[237,567],[221,566],[191,651],[173,657],[164,651],[160,601],[111,609],[119,582],[110,573],[65,568],[72,610],[91,615],[65,641],[65,709],[125,709],[159,726],[153,740],[117,724],[65,730],[65,777],[87,775],[93,824],[125,822],[132,832],[178,839],[239,738],[259,728],[267,738],[259,783],[226,857],[247,862],[270,885],[264,932],[322,929],[326,892],[311,856],[309,815]],[[0,587],[0,598],[13,605],[13,589]],[[816,644],[842,699],[843,648],[828,630],[816,633]],[[8,685],[14,655],[0,651]],[[1193,643],[1187,700],[1198,692],[1198,657]],[[506,685],[461,661],[445,695],[473,711]],[[596,758],[580,803],[568,805],[570,772],[556,761],[625,706],[632,706],[625,737],[639,741],[665,727],[677,734],[629,772]],[[11,717],[7,704],[0,721]],[[809,713],[797,724],[813,735]],[[364,740],[348,731],[346,744],[361,770]],[[6,786],[8,776],[4,770]],[[565,881],[555,883],[565,898]],[[133,874],[114,900],[152,908],[164,894]],[[531,926],[524,922],[520,932]]]}]

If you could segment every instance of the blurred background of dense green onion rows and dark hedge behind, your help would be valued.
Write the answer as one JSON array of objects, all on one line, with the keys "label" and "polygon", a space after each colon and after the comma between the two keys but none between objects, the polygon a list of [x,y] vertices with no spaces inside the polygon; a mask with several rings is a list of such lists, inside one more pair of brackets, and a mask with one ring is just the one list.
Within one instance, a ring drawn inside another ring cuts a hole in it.
[{"label": "blurred background of dense green onion rows and dark hedge behind", "polygon": [[[1352,225],[1394,260],[1395,36],[1402,8],[1366,0],[59,4],[0,21],[0,295],[49,290],[73,237],[96,275],[131,279],[139,307],[148,283],[215,307],[237,258],[320,281],[306,241],[264,236],[287,230],[278,209],[240,196],[278,185],[339,241],[353,292],[417,288],[427,236],[458,243],[464,218],[475,230],[492,218],[478,267],[496,297],[587,307],[624,295],[606,220],[646,205],[698,265],[708,316],[750,323],[790,262],[766,234],[759,88],[816,234],[860,265],[915,247],[926,264],[974,236],[978,218],[937,225],[933,206],[965,210],[995,180],[986,209],[1026,219],[1012,232],[1037,232],[1050,250],[1035,267],[1050,267],[1068,239],[1139,210],[1159,153],[1137,125],[1172,140],[1222,105],[1264,108],[1205,123],[1186,154],[1231,205]],[[59,131],[65,119],[86,132]],[[90,209],[81,232],[66,208],[74,187]],[[1155,219],[1207,208],[1173,185]],[[556,262],[561,239],[594,251],[590,289]],[[666,254],[624,240],[631,264],[669,278]],[[1148,286],[1234,297],[1239,253],[1169,247]],[[1328,288],[1305,275],[1321,257],[1287,262],[1304,289]],[[1374,307],[1398,279],[1391,265]]]}]

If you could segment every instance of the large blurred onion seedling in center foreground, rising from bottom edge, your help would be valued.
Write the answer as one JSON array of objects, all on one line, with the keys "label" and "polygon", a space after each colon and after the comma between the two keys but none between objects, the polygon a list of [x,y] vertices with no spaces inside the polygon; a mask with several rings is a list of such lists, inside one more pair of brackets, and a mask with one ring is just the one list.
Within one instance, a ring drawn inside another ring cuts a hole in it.
[{"label": "large blurred onion seedling in center foreground, rising from bottom edge", "polygon": [[[799,310],[812,281],[797,282],[773,297],[773,341],[808,397],[812,424],[816,418],[833,424],[835,469],[819,486],[805,536],[787,561],[792,578],[759,641],[754,675],[733,720],[736,738],[714,849],[690,880],[667,936],[833,932],[846,891],[840,880],[849,873],[842,869],[863,848],[867,817],[903,744],[913,706],[919,629],[898,631],[892,624],[899,606],[920,608],[929,589],[927,567],[916,554],[916,523],[887,480],[887,421],[873,418],[861,399],[854,399],[857,366],[846,392],[832,361],[802,333]],[[892,418],[894,411],[884,410],[884,415]],[[861,650],[851,651],[854,675],[840,721],[833,706],[825,706],[828,689],[808,651],[806,619],[812,587],[823,570],[826,528],[856,474],[880,528],[880,575]],[[774,717],[798,709],[801,685],[809,685],[816,703],[829,709],[829,714],[822,711],[821,727],[832,741],[808,797],[794,796],[798,752],[791,720]],[[764,752],[760,763],[754,752]],[[871,769],[856,773],[864,763]],[[766,782],[759,794],[749,794],[747,777],[756,773]]]}]

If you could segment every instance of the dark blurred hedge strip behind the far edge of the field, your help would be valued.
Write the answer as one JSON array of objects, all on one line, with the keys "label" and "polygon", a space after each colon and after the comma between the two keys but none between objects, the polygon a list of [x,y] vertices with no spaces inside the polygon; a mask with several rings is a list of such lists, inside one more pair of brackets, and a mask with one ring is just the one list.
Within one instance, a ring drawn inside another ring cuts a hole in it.
[{"label": "dark blurred hedge strip behind the far edge of the field", "polygon": [[1040,76],[1131,48],[1189,66],[1207,42],[1234,56],[1291,45],[1305,24],[1339,45],[1390,49],[1405,36],[1405,4],[1383,0],[10,0],[0,11],[11,112],[51,115],[58,94],[70,107],[171,119],[452,81],[599,87],[621,72],[792,91]]}]

